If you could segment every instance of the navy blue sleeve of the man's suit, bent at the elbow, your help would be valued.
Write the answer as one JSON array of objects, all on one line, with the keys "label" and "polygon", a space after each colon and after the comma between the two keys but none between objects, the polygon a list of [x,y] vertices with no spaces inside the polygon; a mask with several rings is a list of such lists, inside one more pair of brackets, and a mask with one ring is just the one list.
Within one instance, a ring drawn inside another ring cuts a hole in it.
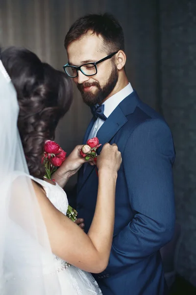
[{"label": "navy blue sleeve of the man's suit, bent at the elbow", "polygon": [[109,266],[114,274],[136,264],[168,243],[175,209],[172,134],[160,119],[148,119],[130,134],[123,168],[134,218],[113,238]]}]

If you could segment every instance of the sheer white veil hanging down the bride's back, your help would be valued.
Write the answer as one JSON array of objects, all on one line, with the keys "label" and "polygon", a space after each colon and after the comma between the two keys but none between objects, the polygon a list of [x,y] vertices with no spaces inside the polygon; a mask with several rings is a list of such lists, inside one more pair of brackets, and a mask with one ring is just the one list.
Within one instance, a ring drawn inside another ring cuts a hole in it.
[{"label": "sheer white veil hanging down the bride's back", "polygon": [[18,113],[16,91],[0,61],[0,295],[60,295],[17,128]]}]

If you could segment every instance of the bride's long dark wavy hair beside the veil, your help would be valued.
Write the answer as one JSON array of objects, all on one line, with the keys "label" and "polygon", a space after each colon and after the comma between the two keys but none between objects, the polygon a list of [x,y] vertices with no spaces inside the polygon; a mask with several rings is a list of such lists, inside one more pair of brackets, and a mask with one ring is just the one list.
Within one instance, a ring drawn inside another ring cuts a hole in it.
[{"label": "bride's long dark wavy hair beside the veil", "polygon": [[18,129],[29,173],[43,178],[44,143],[54,139],[59,119],[71,106],[72,82],[65,73],[24,48],[9,47],[0,59],[17,91]]}]

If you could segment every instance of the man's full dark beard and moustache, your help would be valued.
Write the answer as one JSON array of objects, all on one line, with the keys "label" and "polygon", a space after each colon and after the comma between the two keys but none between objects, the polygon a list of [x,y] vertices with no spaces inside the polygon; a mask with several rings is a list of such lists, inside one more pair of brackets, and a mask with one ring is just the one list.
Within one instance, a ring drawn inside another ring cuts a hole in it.
[{"label": "man's full dark beard and moustache", "polygon": [[[83,84],[77,84],[77,88],[82,94],[83,101],[89,106],[94,106],[97,103],[101,104],[101,102],[112,92],[112,90],[115,88],[118,81],[118,71],[117,68],[114,66],[112,69],[112,72],[110,74],[110,77],[107,81],[107,83],[103,86],[103,88],[100,87],[100,84],[97,81],[94,81],[92,83],[84,82]],[[83,90],[83,87],[90,87],[90,86],[96,86],[97,90],[94,93],[85,92]]]}]

